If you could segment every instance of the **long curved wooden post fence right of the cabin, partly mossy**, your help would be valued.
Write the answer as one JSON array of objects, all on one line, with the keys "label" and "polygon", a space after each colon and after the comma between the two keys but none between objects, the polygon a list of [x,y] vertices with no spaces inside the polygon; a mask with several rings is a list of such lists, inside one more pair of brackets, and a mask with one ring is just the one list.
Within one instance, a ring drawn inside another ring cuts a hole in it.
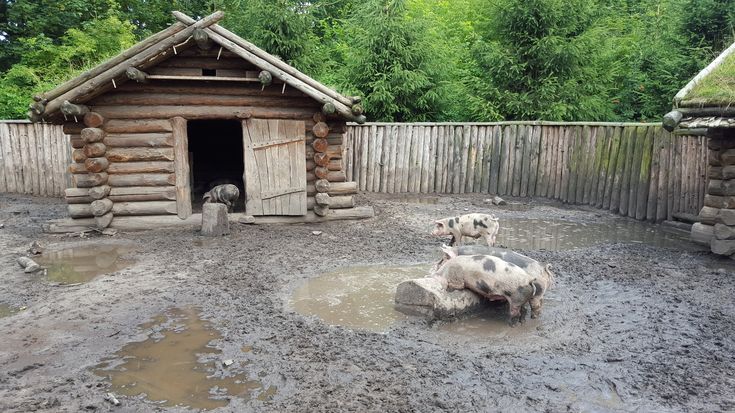
[{"label": "long curved wooden post fence right of the cabin, partly mossy", "polygon": [[503,122],[351,125],[347,179],[363,191],[536,196],[661,221],[698,214],[703,136],[660,124]]}]

